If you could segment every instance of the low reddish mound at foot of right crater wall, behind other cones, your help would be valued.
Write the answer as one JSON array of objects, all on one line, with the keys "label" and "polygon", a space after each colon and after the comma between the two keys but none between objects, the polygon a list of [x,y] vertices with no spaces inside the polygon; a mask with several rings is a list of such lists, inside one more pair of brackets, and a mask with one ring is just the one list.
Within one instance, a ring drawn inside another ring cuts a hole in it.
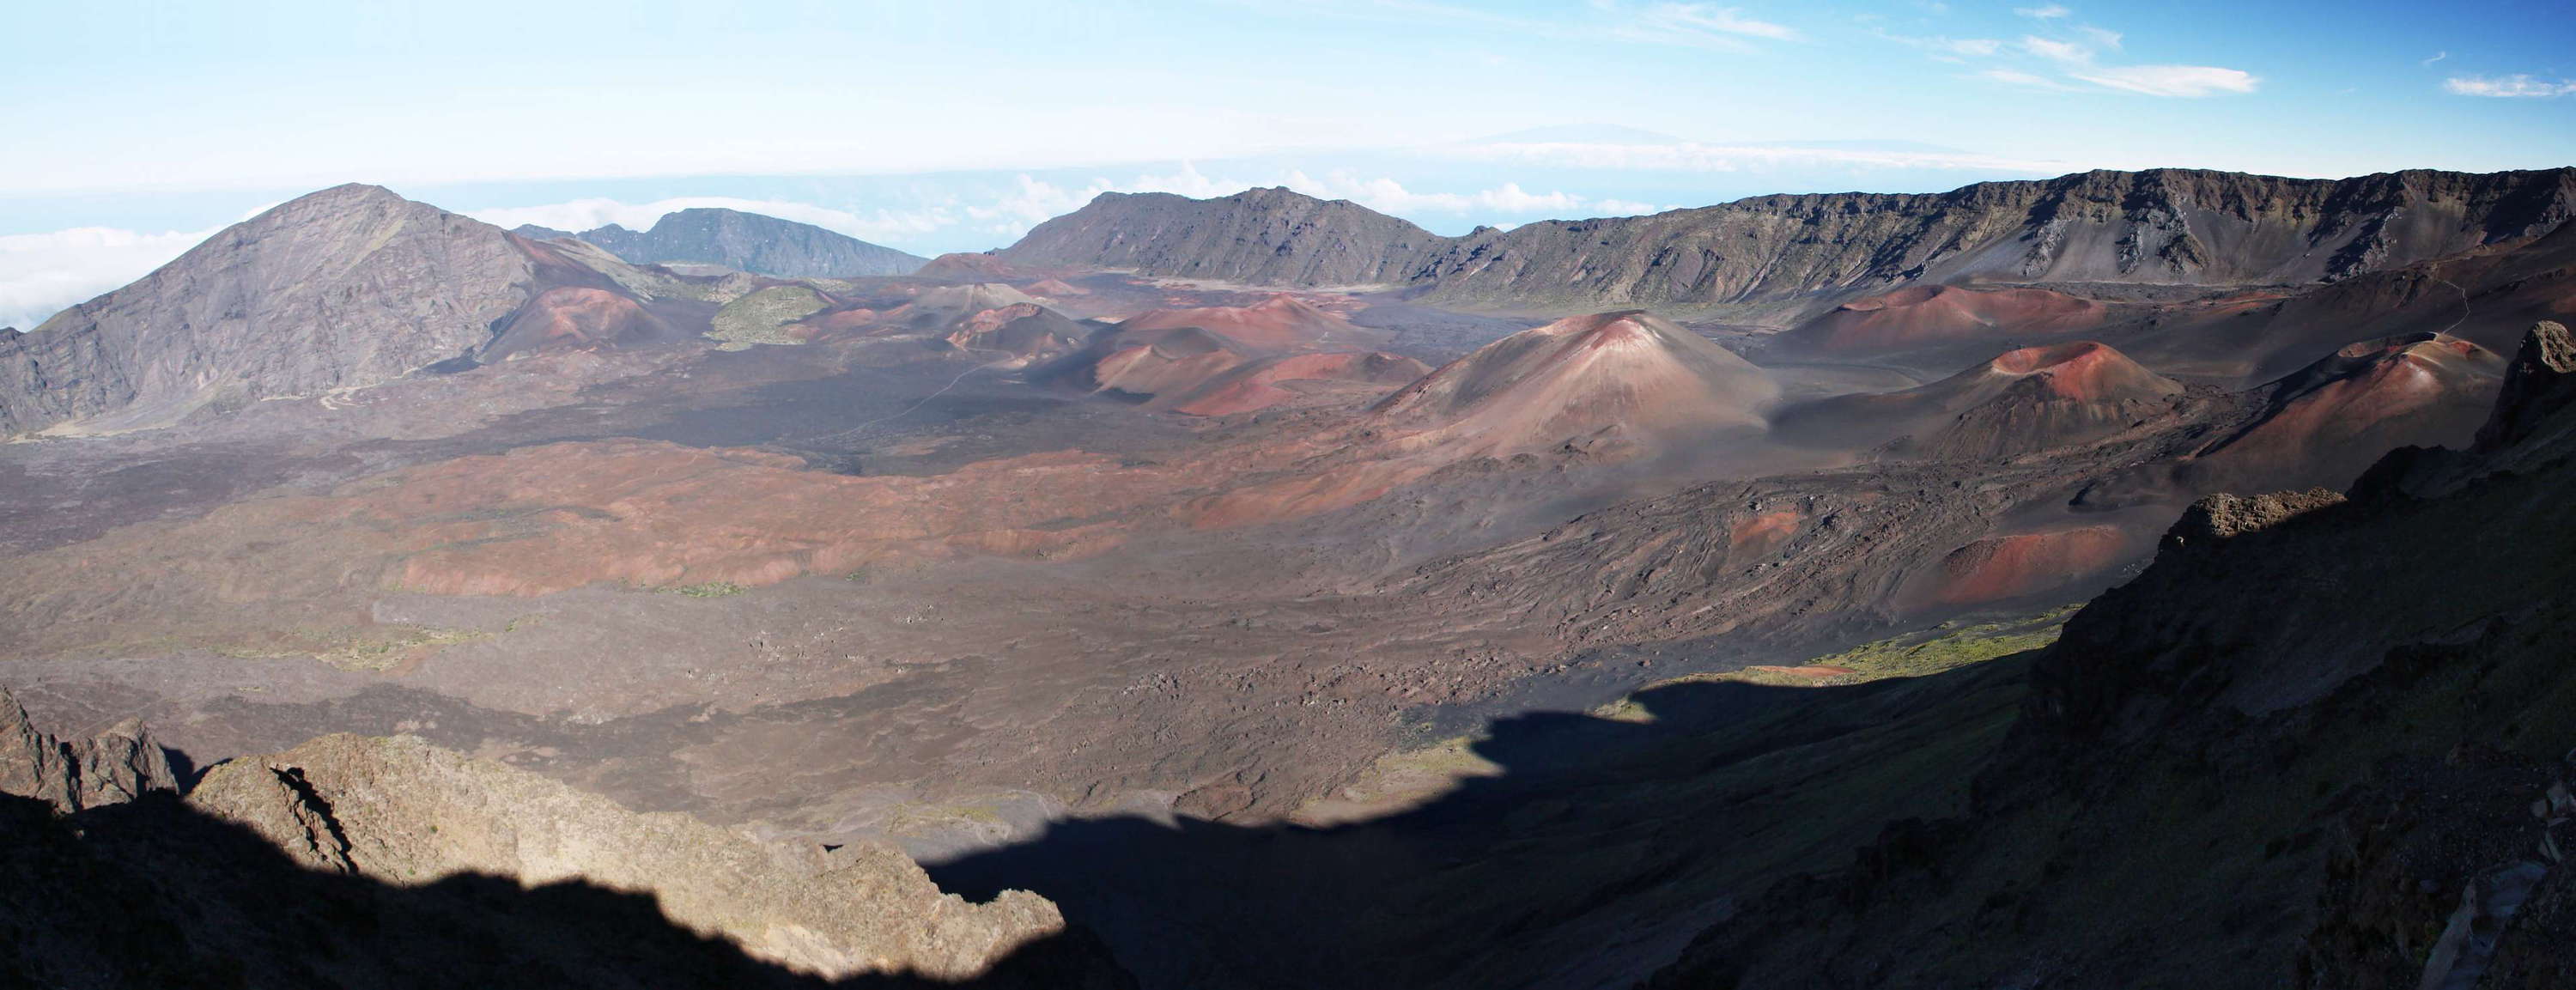
[{"label": "low reddish mound at foot of right crater wall, behind other cones", "polygon": [[2099,302],[2048,289],[1906,286],[1834,307],[1790,330],[1788,340],[1826,353],[1906,351],[2084,333],[2107,315]]}]

